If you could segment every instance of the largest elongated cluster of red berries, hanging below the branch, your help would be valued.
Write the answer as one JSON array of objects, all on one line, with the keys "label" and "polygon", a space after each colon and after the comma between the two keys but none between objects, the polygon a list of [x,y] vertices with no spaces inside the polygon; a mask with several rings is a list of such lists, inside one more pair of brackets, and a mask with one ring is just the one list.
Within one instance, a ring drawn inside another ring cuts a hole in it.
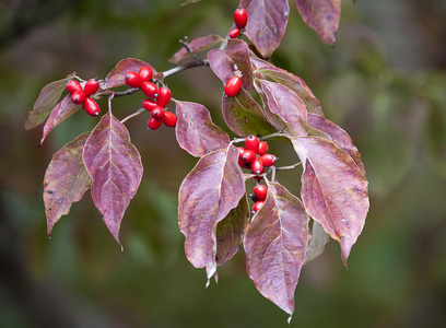
[{"label": "largest elongated cluster of red berries, hanging below the branch", "polygon": [[159,87],[152,80],[152,68],[143,66],[138,72],[128,72],[125,81],[128,86],[139,87],[148,96],[142,102],[142,107],[152,114],[152,118],[148,122],[149,129],[156,130],[163,122],[167,127],[175,127],[177,117],[174,113],[165,109],[171,102],[172,92],[166,86]]}]

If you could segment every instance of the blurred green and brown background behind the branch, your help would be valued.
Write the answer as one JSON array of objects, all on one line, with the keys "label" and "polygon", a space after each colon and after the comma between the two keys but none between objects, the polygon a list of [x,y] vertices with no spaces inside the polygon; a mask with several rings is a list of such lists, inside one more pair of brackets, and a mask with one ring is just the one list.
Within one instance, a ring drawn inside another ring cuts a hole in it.
[{"label": "blurred green and brown background behind the branch", "polygon": [[[121,253],[91,197],[46,236],[43,177],[51,155],[97,119],[74,115],[38,148],[23,124],[40,89],[77,71],[104,78],[122,58],[163,71],[178,40],[224,35],[236,1],[2,0],[0,2],[0,327],[287,327],[248,279],[240,251],[204,289],[184,255],[177,191],[196,159],[174,130],[128,121],[144,177],[121,226]],[[293,1],[272,61],[303,78],[327,118],[360,149],[371,210],[347,271],[339,245],[305,266],[290,327],[444,327],[446,323],[446,2],[342,2],[336,47]],[[208,68],[169,78],[174,97],[214,121],[223,85]],[[124,118],[139,94],[117,98]],[[105,104],[103,104],[103,108]],[[172,108],[173,109],[173,108]],[[270,143],[283,165],[296,155]],[[300,171],[279,180],[298,192]]]}]

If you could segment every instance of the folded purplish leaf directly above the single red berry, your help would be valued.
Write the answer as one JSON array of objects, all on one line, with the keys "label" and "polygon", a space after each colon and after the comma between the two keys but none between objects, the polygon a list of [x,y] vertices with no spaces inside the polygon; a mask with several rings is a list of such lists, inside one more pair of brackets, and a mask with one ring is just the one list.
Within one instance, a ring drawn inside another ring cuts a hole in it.
[{"label": "folded purplish leaf directly above the single red berry", "polygon": [[226,83],[235,75],[236,71],[242,72],[242,85],[246,90],[253,89],[253,66],[250,63],[249,47],[240,39],[227,40],[227,47],[212,49],[208,54],[209,65],[212,71]]}]

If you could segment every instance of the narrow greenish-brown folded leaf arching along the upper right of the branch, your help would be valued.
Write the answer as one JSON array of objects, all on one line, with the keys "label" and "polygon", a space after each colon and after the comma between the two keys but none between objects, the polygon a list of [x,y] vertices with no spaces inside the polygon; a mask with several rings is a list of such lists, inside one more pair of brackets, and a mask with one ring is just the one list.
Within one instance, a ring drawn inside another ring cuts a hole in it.
[{"label": "narrow greenish-brown folded leaf arching along the upper right of the branch", "polygon": [[255,68],[254,73],[256,78],[286,85],[305,103],[308,113],[324,116],[319,101],[315,97],[304,80],[258,58],[251,58],[251,63]]}]

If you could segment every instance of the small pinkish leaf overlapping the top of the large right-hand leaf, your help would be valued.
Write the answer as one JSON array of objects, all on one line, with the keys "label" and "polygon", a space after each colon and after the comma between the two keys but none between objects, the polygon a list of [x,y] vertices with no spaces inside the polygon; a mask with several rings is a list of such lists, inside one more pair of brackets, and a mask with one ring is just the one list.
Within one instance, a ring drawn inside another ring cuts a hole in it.
[{"label": "small pinkish leaf overlapping the top of the large right-hand leaf", "polygon": [[[287,86],[266,80],[259,81],[262,93],[267,116],[271,124],[278,130],[286,127],[290,136],[307,136],[306,126],[306,106],[304,102]],[[269,114],[272,113],[275,116]]]}]

